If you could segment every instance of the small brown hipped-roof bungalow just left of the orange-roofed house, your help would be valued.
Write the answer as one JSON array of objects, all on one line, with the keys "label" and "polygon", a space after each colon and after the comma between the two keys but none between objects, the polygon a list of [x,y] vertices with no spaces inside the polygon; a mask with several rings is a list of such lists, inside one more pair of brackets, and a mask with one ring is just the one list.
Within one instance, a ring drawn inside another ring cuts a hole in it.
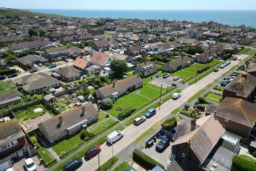
[{"label": "small brown hipped-roof bungalow just left of the orange-roofed house", "polygon": [[57,73],[61,75],[61,80],[65,82],[75,81],[82,76],[82,71],[73,66],[64,67],[57,71]]}]

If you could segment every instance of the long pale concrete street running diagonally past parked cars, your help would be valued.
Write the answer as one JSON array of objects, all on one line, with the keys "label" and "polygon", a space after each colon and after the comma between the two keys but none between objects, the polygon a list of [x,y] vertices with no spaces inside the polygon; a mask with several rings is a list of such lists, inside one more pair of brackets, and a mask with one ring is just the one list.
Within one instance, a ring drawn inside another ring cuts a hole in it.
[{"label": "long pale concrete street running diagonally past parked cars", "polygon": [[[243,59],[245,56],[242,57]],[[112,157],[112,153],[117,155],[120,151],[125,149],[127,145],[133,143],[137,137],[139,137],[144,131],[150,129],[155,123],[162,120],[162,118],[165,118],[174,110],[175,108],[178,108],[181,106],[181,104],[184,104],[187,102],[189,98],[191,98],[194,94],[199,92],[199,90],[205,88],[208,84],[212,83],[215,79],[218,79],[220,75],[226,73],[229,69],[231,69],[234,65],[237,65],[241,61],[232,61],[230,65],[225,67],[224,69],[220,69],[218,73],[210,73],[210,75],[207,75],[207,77],[204,77],[203,79],[199,80],[197,84],[193,84],[192,86],[189,86],[183,92],[181,92],[181,98],[178,100],[168,100],[164,104],[162,104],[161,108],[156,109],[156,115],[154,115],[152,118],[147,119],[147,121],[139,126],[130,125],[125,130],[123,130],[123,139],[117,141],[112,146],[107,145],[106,143],[100,145],[102,151],[100,153],[100,164],[103,164],[108,159]],[[84,159],[83,159],[84,160]],[[92,160],[85,161],[84,164],[78,169],[78,170],[96,170],[98,168],[98,158],[92,158]]]}]

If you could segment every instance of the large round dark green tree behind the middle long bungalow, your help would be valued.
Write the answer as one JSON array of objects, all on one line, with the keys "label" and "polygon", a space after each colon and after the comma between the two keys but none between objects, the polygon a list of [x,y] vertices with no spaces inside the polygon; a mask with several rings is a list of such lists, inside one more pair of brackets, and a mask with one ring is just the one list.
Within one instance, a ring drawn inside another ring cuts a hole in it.
[{"label": "large round dark green tree behind the middle long bungalow", "polygon": [[114,59],[111,61],[110,68],[117,76],[122,76],[129,69],[127,62],[120,59]]}]

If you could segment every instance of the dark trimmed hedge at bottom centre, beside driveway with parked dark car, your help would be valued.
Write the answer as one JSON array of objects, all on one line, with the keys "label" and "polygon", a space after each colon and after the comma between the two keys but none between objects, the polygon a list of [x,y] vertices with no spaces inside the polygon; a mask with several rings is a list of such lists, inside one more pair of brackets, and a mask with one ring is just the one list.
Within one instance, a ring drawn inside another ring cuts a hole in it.
[{"label": "dark trimmed hedge at bottom centre, beside driveway with parked dark car", "polygon": [[156,166],[160,166],[164,169],[162,164],[156,162],[156,160],[150,158],[150,156],[146,155],[146,153],[143,153],[142,151],[139,151],[138,149],[133,150],[133,160],[139,162],[139,164],[148,168],[148,170],[152,170]]}]

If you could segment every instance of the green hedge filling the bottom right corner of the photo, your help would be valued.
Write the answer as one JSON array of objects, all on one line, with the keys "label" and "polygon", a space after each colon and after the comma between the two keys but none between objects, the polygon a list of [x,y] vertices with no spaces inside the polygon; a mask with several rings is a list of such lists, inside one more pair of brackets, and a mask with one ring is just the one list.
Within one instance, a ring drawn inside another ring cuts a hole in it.
[{"label": "green hedge filling the bottom right corner of the photo", "polygon": [[232,170],[256,171],[256,160],[245,155],[234,156],[232,159]]}]

